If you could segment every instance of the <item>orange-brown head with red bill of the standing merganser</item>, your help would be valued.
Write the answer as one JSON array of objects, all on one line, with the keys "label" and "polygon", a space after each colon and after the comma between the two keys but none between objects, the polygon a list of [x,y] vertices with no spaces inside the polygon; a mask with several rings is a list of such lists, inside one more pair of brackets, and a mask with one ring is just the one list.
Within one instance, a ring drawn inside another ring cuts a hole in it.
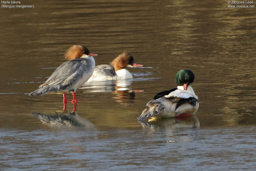
[{"label": "orange-brown head with red bill of the standing merganser", "polygon": [[85,46],[73,45],[66,51],[64,58],[66,60],[73,60],[76,58],[81,58],[83,55],[99,56],[99,55],[90,53],[89,49],[87,49]]}]

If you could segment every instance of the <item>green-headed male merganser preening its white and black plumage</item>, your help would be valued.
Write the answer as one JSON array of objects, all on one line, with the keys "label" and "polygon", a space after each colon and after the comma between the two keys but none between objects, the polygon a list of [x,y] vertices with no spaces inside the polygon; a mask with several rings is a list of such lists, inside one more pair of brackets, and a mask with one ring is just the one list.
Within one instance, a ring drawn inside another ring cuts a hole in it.
[{"label": "green-headed male merganser preening its white and black plumage", "polygon": [[180,70],[175,76],[177,88],[162,91],[147,103],[138,120],[152,117],[180,117],[191,116],[198,110],[198,97],[190,83],[194,81],[194,74],[190,70]]}]

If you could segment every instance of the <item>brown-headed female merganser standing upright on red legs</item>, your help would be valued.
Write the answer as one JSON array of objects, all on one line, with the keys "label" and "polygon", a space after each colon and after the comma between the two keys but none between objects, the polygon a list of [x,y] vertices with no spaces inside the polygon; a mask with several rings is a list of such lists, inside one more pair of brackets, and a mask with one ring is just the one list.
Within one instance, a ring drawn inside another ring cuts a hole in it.
[{"label": "brown-headed female merganser standing upright on red legs", "polygon": [[92,75],[95,61],[89,49],[84,46],[71,46],[64,55],[69,60],[62,63],[48,78],[39,86],[39,89],[30,93],[30,96],[44,95],[46,93],[63,93],[63,101],[67,101],[66,94],[73,94],[72,102],[77,102],[76,89],[82,86]]}]

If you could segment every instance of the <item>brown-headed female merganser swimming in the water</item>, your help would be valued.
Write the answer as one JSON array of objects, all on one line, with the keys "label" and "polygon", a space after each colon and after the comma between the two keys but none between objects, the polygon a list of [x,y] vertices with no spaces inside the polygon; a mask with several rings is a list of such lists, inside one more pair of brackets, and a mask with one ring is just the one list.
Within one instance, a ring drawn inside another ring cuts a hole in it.
[{"label": "brown-headed female merganser swimming in the water", "polygon": [[98,65],[95,67],[89,81],[122,80],[133,78],[125,67],[144,67],[134,62],[133,56],[123,52],[116,57],[110,65]]}]

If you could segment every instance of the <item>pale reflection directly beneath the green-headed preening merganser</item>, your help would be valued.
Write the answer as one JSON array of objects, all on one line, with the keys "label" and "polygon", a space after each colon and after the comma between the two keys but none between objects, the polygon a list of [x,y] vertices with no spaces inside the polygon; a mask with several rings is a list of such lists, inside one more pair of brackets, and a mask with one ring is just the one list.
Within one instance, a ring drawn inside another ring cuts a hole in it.
[{"label": "pale reflection directly beneath the green-headed preening merganser", "polygon": [[196,116],[185,116],[178,118],[152,118],[148,121],[138,121],[143,127],[151,128],[199,128],[199,120]]}]

